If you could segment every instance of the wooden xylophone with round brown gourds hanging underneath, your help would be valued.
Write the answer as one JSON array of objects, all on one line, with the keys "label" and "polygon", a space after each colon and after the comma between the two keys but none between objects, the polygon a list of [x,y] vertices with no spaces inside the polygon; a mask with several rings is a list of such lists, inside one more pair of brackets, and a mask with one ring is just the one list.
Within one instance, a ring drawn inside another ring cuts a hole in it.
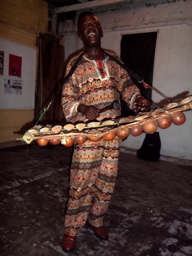
[{"label": "wooden xylophone with round brown gourds hanging underneath", "polygon": [[[97,142],[113,140],[115,136],[121,139],[138,136],[143,132],[153,134],[157,128],[166,129],[171,123],[181,125],[186,117],[183,113],[192,110],[192,96],[180,100],[180,102],[146,112],[136,113],[134,116],[120,117],[100,122],[87,122],[61,125],[36,125],[29,129],[23,136],[23,140],[29,144],[36,140],[40,146],[46,146],[48,142],[53,145],[62,144],[72,146],[74,143],[83,144],[87,139]],[[21,138],[17,139],[21,140]]]}]

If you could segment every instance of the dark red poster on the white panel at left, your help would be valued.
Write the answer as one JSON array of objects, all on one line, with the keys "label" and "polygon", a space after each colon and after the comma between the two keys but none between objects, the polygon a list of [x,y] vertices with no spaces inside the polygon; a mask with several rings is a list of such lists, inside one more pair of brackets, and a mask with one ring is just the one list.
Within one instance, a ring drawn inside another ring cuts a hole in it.
[{"label": "dark red poster on the white panel at left", "polygon": [[9,55],[9,75],[21,77],[22,57],[13,54]]}]

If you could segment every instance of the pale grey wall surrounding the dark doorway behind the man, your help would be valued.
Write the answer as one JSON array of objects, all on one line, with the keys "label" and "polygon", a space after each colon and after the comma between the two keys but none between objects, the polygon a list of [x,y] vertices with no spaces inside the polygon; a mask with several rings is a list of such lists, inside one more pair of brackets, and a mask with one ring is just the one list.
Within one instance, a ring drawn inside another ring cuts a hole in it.
[{"label": "pale grey wall surrounding the dark doorway behind the man", "polygon": [[[102,47],[120,54],[123,34],[157,31],[153,85],[170,98],[186,98],[192,95],[192,1],[164,3],[151,0],[148,5],[145,2],[137,0],[115,11],[99,12],[97,9],[96,13],[93,10],[104,30]],[[83,48],[72,20],[60,24],[60,34],[64,36],[66,59]],[[159,106],[168,103],[154,91],[152,100]],[[157,130],[162,155],[192,159],[192,111],[185,114],[187,120],[181,126],[172,124],[166,130]],[[138,149],[144,136],[130,135],[122,146]]]}]

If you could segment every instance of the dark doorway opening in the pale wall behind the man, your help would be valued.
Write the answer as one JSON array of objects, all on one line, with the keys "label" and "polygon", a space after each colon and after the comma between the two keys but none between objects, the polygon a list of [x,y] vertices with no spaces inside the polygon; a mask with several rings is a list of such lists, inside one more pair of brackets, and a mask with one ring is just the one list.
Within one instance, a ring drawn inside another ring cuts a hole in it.
[{"label": "dark doorway opening in the pale wall behind the man", "polygon": [[[153,70],[156,51],[157,32],[123,35],[120,43],[120,58],[133,72],[144,78],[144,81],[152,86]],[[151,89],[145,89],[143,85],[132,78],[141,94],[151,100]],[[127,105],[122,102],[122,115],[132,114]]]}]

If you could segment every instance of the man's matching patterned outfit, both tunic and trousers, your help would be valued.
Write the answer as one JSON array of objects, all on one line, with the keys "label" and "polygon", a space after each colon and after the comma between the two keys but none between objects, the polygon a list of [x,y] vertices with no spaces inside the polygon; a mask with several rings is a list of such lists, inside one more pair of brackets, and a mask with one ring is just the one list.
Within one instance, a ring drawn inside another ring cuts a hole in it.
[{"label": "man's matching patterned outfit, both tunic and trousers", "polygon": [[[69,62],[67,73],[78,56]],[[120,60],[115,54],[114,57]],[[62,108],[68,122],[87,121],[84,114],[77,112],[79,103],[103,109],[114,100],[120,101],[120,94],[134,110],[134,100],[140,92],[128,73],[107,56],[99,64],[104,74],[99,72],[98,64],[84,54],[72,77],[63,86]],[[101,113],[97,120],[116,118],[120,113],[120,110],[108,110]],[[84,144],[74,143],[64,219],[66,234],[76,236],[86,221],[95,227],[103,226],[116,183],[120,143],[119,137],[112,141],[101,139],[98,142],[87,140]]]}]

